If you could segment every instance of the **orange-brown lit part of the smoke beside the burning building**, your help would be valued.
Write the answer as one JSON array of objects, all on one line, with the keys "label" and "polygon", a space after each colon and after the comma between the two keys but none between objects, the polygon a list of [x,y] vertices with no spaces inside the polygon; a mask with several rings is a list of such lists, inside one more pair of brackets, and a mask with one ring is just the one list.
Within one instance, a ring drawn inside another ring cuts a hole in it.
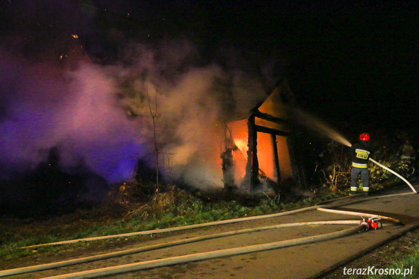
[{"label": "orange-brown lit part of the smoke beside the burning building", "polygon": [[[132,121],[141,122],[137,127],[143,138],[148,138],[149,150],[153,140],[151,113],[157,110],[159,164],[166,169],[172,167],[173,178],[189,185],[222,186],[222,121],[248,112],[266,93],[257,75],[215,63],[188,64],[190,57],[197,57],[195,51],[186,41],[164,44],[159,49],[136,44],[129,53],[137,59],[124,70],[115,67],[114,75],[124,84],[121,103],[134,115]],[[163,160],[163,154],[170,154],[173,165]]]}]

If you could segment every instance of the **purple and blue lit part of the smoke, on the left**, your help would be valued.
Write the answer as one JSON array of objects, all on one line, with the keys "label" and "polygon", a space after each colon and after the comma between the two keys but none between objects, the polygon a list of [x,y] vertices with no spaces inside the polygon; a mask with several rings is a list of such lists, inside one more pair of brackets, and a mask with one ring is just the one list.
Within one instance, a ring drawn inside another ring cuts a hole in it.
[{"label": "purple and blue lit part of the smoke, on the left", "polygon": [[7,62],[1,63],[6,75],[0,78],[10,85],[2,88],[2,176],[33,168],[57,147],[64,168],[84,164],[110,181],[127,177],[143,155],[144,143],[118,106],[115,84],[100,66],[81,64],[67,72],[50,64],[22,63],[24,69],[13,74],[19,67],[6,68],[17,66]]}]

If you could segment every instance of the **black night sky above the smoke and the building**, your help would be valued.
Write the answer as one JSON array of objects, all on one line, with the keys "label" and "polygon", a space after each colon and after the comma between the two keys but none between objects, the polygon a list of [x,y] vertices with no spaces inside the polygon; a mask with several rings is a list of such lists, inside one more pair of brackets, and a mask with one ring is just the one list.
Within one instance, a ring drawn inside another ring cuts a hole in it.
[{"label": "black night sky above the smoke and the building", "polygon": [[1,33],[21,39],[2,40],[4,48],[18,44],[15,51],[34,59],[65,52],[66,35],[77,33],[99,63],[115,63],[129,40],[155,45],[184,37],[199,51],[191,63],[229,63],[221,51],[229,48],[255,67],[257,60],[275,63],[275,74],[291,82],[300,105],[319,116],[399,120],[404,115],[412,121],[418,116],[418,6],[417,1],[5,0]]}]

